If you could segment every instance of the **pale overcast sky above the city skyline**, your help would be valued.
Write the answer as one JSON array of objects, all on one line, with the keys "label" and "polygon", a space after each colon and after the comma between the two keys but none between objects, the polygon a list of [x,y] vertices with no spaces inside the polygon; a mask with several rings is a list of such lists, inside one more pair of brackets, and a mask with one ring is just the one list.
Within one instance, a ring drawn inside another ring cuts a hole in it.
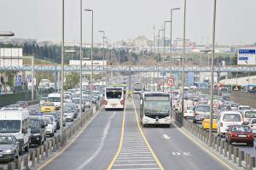
[{"label": "pale overcast sky above the city skyline", "polygon": [[[79,42],[79,0],[65,0],[65,42]],[[256,1],[217,0],[218,44],[256,42]],[[125,40],[137,36],[153,39],[170,9],[173,38],[183,37],[183,0],[83,0],[83,8],[94,9],[95,42]],[[187,0],[186,37],[193,42],[212,41],[213,0]],[[61,0],[1,0],[0,31],[14,31],[17,38],[61,42]],[[90,42],[91,14],[83,12],[83,41]],[[166,25],[167,37],[170,26]]]}]

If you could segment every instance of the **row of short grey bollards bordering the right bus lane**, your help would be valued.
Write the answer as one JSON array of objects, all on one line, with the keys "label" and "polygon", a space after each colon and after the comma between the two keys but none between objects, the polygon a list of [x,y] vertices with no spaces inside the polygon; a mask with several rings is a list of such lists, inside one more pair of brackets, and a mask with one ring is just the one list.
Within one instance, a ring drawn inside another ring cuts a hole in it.
[{"label": "row of short grey bollards bordering the right bus lane", "polygon": [[[177,113],[177,111],[172,111],[172,118],[179,126],[183,125],[189,133],[194,134],[196,138],[200,139],[207,145],[211,145],[209,133],[201,127],[198,127],[195,123],[184,119],[181,114]],[[256,149],[256,146],[254,147]],[[251,156],[244,150],[241,150],[232,144],[228,144],[226,141],[214,135],[212,136],[212,149],[216,150],[219,155],[222,155],[235,163],[238,167],[244,167],[246,170],[256,170],[255,156]]]}]

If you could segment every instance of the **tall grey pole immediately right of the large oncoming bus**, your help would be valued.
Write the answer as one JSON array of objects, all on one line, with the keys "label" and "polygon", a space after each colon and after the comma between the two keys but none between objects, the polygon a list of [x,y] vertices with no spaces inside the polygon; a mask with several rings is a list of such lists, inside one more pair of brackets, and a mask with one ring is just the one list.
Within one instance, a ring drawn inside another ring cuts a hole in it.
[{"label": "tall grey pole immediately right of the large oncoming bus", "polygon": [[[182,116],[184,116],[184,85],[185,85],[185,43],[186,43],[186,8],[187,8],[187,0],[184,0],[184,13],[183,13],[183,76],[182,76]],[[183,124],[183,122],[182,122]]]}]

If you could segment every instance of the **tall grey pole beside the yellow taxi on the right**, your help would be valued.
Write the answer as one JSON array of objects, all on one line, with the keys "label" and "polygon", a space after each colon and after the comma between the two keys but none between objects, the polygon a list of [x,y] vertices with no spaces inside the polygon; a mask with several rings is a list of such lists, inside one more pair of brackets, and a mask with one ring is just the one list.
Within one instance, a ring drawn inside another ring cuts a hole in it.
[{"label": "tall grey pole beside the yellow taxi on the right", "polygon": [[212,68],[211,68],[211,105],[210,105],[210,146],[212,146],[212,113],[213,113],[213,71],[214,71],[214,55],[215,55],[215,27],[216,27],[216,3],[217,0],[213,0],[213,23],[212,23]]}]

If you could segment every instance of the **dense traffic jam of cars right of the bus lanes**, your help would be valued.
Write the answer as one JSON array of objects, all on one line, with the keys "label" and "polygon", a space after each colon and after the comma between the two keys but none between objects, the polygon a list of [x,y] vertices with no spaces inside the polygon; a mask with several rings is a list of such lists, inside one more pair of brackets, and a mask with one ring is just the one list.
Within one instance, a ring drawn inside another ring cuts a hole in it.
[{"label": "dense traffic jam of cars right of the bus lanes", "polygon": [[[206,131],[210,129],[210,95],[196,87],[184,88],[184,118]],[[256,109],[230,100],[230,94],[213,97],[212,131],[229,144],[253,147],[256,137]],[[172,108],[182,113],[181,90],[172,89]]]}]

